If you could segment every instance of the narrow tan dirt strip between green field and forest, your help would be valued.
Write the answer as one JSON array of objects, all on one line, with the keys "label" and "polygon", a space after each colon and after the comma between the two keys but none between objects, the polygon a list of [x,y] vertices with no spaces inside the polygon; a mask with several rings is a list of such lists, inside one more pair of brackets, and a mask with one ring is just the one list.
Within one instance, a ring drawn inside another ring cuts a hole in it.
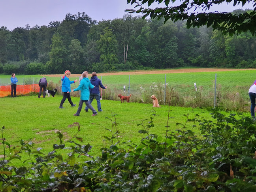
[{"label": "narrow tan dirt strip between green field and forest", "polygon": [[[191,68],[191,69],[173,69],[173,70],[150,70],[134,72],[114,72],[114,73],[97,73],[97,76],[107,75],[147,75],[147,74],[168,74],[168,73],[196,73],[196,72],[226,72],[226,71],[245,71],[256,69],[217,69],[217,68]],[[70,77],[79,77],[81,74],[72,74]],[[45,75],[48,77],[62,77],[63,74]],[[89,73],[90,76],[90,73]]]}]

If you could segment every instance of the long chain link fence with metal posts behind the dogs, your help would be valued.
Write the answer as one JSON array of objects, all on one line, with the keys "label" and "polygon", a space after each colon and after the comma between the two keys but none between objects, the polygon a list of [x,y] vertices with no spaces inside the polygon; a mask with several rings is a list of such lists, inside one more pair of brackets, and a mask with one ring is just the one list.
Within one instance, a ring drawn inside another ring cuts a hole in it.
[{"label": "long chain link fence with metal posts behind the dogs", "polygon": [[[80,76],[77,76],[77,79]],[[76,77],[72,77],[74,80]],[[90,77],[89,77],[90,78]],[[169,73],[147,75],[107,75],[98,76],[107,89],[101,89],[102,98],[120,100],[117,96],[132,94],[130,102],[152,103],[151,96],[158,98],[160,105],[169,104],[181,107],[222,106],[227,110],[250,110],[248,89],[254,82],[254,72],[218,73]],[[19,78],[17,85],[38,84],[40,78]],[[48,81],[48,80],[47,80]],[[50,81],[48,81],[48,85]],[[58,87],[54,82],[50,87]],[[0,86],[10,86],[10,79],[0,79]],[[71,90],[78,82],[71,84]],[[38,88],[39,90],[39,88]],[[80,96],[80,92],[71,93]]]}]

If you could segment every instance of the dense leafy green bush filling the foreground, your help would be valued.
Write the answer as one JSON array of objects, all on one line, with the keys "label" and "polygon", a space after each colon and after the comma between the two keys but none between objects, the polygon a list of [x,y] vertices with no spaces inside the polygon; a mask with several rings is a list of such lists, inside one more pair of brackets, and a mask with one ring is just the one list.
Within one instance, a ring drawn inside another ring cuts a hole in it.
[{"label": "dense leafy green bush filling the foreground", "polygon": [[[53,145],[48,154],[42,148],[34,149],[32,142],[20,141],[11,147],[11,153],[0,161],[1,191],[78,191],[78,192],[169,192],[169,191],[256,191],[256,127],[249,117],[230,114],[228,117],[212,110],[212,120],[200,120],[194,114],[175,132],[170,132],[167,117],[166,137],[150,134],[154,128],[154,115],[143,120],[139,133],[141,143],[121,143],[117,130],[116,114],[112,113],[111,143],[102,149],[102,155],[94,158],[88,154],[89,144],[80,145],[83,139],[74,136]],[[187,128],[186,122],[194,122]],[[173,125],[171,125],[173,126]],[[199,126],[201,135],[193,132]],[[4,127],[2,128],[2,132]],[[78,126],[78,132],[80,127]],[[75,141],[75,139],[77,141]],[[68,143],[71,143],[68,146]],[[125,147],[124,147],[125,146]],[[69,149],[68,157],[62,156]],[[6,150],[6,149],[5,149]],[[13,159],[20,159],[21,152],[30,154],[30,167],[11,166]],[[79,161],[87,156],[88,161]]]}]

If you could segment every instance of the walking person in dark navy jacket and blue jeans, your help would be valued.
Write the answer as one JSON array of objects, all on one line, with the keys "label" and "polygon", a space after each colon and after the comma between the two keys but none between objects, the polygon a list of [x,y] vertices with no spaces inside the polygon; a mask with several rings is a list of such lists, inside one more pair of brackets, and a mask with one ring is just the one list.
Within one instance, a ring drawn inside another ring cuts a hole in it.
[{"label": "walking person in dark navy jacket and blue jeans", "polygon": [[[97,77],[97,73],[96,72],[92,72],[92,77],[90,79],[90,82],[92,83],[92,85],[94,85],[95,87],[90,89],[90,98],[89,98],[89,102],[90,104],[92,103],[94,97],[96,98],[97,101],[97,105],[98,105],[98,111],[102,111],[101,109],[101,105],[100,105],[100,89],[99,89],[99,85],[101,88],[107,88],[104,87],[100,81],[100,79],[98,79]],[[88,112],[88,107],[85,107],[85,111]]]}]

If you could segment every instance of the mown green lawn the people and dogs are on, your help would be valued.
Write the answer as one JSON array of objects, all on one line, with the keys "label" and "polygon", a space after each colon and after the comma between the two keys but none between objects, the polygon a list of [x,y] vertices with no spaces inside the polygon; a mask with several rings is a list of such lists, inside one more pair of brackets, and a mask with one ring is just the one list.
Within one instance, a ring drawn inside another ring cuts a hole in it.
[{"label": "mown green lawn the people and dogs are on", "polygon": [[[65,101],[65,109],[59,109],[62,97],[37,98],[37,96],[23,96],[17,98],[0,98],[0,126],[5,126],[4,137],[11,145],[16,145],[15,141],[23,139],[24,141],[33,141],[36,147],[42,147],[43,151],[49,152],[53,148],[54,143],[59,143],[57,137],[58,130],[64,134],[64,140],[75,135],[78,130],[77,123],[80,124],[81,131],[77,135],[83,138],[82,145],[93,146],[90,154],[97,156],[100,154],[100,148],[111,145],[109,141],[105,141],[104,136],[111,137],[111,132],[105,128],[111,129],[111,112],[117,113],[117,129],[120,131],[120,140],[126,142],[131,140],[133,143],[139,143],[142,134],[138,131],[142,129],[137,126],[145,119],[150,119],[155,113],[154,127],[150,129],[151,134],[164,136],[166,132],[166,124],[168,120],[168,106],[162,105],[160,108],[154,108],[151,104],[127,103],[121,104],[120,101],[102,100],[102,109],[98,115],[92,117],[92,112],[86,113],[81,111],[79,117],[73,114],[77,111],[77,107],[71,107],[68,100]],[[72,97],[74,104],[79,103],[79,98]],[[97,109],[96,101],[92,105]],[[85,107],[85,106],[84,106]],[[154,111],[155,110],[155,111]],[[200,118],[209,119],[211,115],[206,109],[192,109],[184,107],[171,107],[169,119],[169,130],[176,130],[181,126],[176,126],[176,122],[186,122],[184,114],[189,114],[189,118],[193,119],[194,114],[201,113]],[[248,113],[248,116],[250,114]],[[144,123],[147,124],[148,120]],[[198,125],[198,124],[197,124]],[[192,123],[189,122],[188,127],[192,129]],[[196,131],[196,127],[193,128]],[[114,130],[116,132],[116,130]],[[199,134],[199,133],[198,133]],[[19,138],[19,139],[18,139]],[[79,142],[79,141],[77,141]],[[2,143],[0,145],[0,154],[3,154]]]}]

